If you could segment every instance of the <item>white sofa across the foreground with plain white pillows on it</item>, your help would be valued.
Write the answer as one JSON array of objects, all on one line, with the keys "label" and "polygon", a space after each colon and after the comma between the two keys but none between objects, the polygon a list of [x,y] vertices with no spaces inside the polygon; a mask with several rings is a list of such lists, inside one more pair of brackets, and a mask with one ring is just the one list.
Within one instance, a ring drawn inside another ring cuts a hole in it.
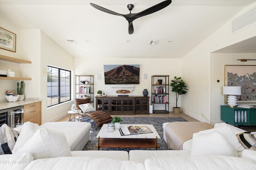
[{"label": "white sofa across the foreground with plain white pillows on it", "polygon": [[[58,122],[56,122],[58,123]],[[66,123],[66,122],[65,122]],[[81,124],[85,129],[87,125]],[[68,122],[69,128],[64,130],[62,125],[55,126],[55,123],[48,123],[40,126],[32,138],[28,139],[20,148],[24,152],[13,154],[0,155],[0,169],[1,170],[255,170],[256,169],[256,151],[241,148],[239,143],[233,140],[237,129],[233,129],[232,133],[228,132],[226,138],[231,139],[230,143],[222,142],[226,139],[225,132],[218,127],[231,129],[225,124],[216,124],[214,128],[208,131],[209,133],[198,132],[195,133],[192,139],[190,150],[131,150],[126,151],[100,151],[100,150],[75,150],[70,151],[74,145],[74,136],[70,132],[76,129],[76,123]],[[57,124],[56,124],[57,125]],[[53,127],[56,127],[54,129]],[[22,128],[23,129],[23,128]],[[82,131],[86,131],[86,130]],[[52,131],[54,130],[54,131]],[[63,133],[59,131],[64,131]],[[90,131],[90,129],[89,129]],[[68,132],[68,133],[66,133]],[[39,135],[38,135],[39,134]],[[232,136],[231,136],[231,135]],[[21,131],[21,139],[24,135]],[[66,136],[67,135],[67,136]],[[211,136],[213,135],[213,136]],[[50,136],[50,138],[48,137]],[[66,136],[66,138],[63,136]],[[86,135],[84,135],[86,136]],[[216,138],[218,136],[218,138]],[[19,138],[18,137],[18,138]],[[37,142],[31,143],[32,139],[38,139]],[[40,142],[41,137],[45,140]],[[46,138],[48,137],[48,138]],[[200,141],[206,137],[206,140]],[[214,138],[214,140],[212,139]],[[224,138],[222,138],[224,137]],[[73,140],[70,140],[73,139]],[[82,138],[80,138],[80,141]],[[84,137],[83,137],[84,139]],[[56,143],[52,144],[52,141]],[[212,141],[212,143],[208,143]],[[235,142],[233,142],[235,141]],[[18,140],[17,140],[18,142]],[[42,144],[41,144],[42,143]],[[201,145],[206,143],[206,145]],[[19,145],[18,143],[16,143]],[[15,144],[15,145],[16,145]],[[198,146],[198,144],[200,144]],[[38,146],[40,145],[40,146]],[[83,144],[85,145],[85,144]],[[210,145],[210,146],[209,146]],[[222,149],[222,147],[225,147]],[[15,148],[14,148],[15,149]],[[73,149],[73,150],[74,150]],[[48,150],[53,151],[48,154]],[[26,151],[26,152],[25,152]],[[238,153],[239,154],[236,154]],[[40,152],[42,154],[40,154]],[[57,153],[55,153],[57,152]],[[48,156],[48,157],[46,157]]]}]

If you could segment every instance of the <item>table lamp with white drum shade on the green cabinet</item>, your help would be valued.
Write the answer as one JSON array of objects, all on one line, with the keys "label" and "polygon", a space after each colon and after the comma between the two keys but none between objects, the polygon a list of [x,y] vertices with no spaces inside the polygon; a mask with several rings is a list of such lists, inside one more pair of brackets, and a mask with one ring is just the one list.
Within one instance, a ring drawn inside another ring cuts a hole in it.
[{"label": "table lamp with white drum shade on the green cabinet", "polygon": [[223,94],[228,96],[228,105],[230,107],[236,106],[236,96],[233,95],[241,95],[241,86],[224,86]]}]

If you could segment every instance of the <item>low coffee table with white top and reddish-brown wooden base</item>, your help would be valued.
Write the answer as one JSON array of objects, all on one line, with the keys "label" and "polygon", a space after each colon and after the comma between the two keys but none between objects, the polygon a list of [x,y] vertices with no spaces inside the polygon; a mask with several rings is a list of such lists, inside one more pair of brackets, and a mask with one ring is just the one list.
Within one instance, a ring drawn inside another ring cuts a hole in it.
[{"label": "low coffee table with white top and reddish-brown wooden base", "polygon": [[107,131],[107,124],[104,124],[98,135],[98,143],[96,147],[100,148],[159,148],[158,135],[153,125],[141,125],[141,124],[121,124],[120,127],[128,126],[147,126],[153,133],[144,133],[138,135],[126,135],[121,136],[119,129],[115,129],[113,132]]}]

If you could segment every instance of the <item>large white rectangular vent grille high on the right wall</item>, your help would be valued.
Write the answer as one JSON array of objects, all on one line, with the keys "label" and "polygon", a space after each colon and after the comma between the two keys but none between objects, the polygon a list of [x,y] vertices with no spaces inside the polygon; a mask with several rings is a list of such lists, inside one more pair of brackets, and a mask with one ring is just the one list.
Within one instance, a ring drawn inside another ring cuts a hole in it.
[{"label": "large white rectangular vent grille high on the right wall", "polygon": [[256,23],[256,6],[231,20],[231,34]]}]

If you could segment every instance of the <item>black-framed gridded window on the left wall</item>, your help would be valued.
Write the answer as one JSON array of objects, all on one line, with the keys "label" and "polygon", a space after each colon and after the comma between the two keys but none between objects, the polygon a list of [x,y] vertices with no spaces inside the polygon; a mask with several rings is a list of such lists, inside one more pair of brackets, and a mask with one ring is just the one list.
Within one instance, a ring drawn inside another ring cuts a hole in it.
[{"label": "black-framed gridded window on the left wall", "polygon": [[71,71],[47,66],[47,107],[71,100]]}]

